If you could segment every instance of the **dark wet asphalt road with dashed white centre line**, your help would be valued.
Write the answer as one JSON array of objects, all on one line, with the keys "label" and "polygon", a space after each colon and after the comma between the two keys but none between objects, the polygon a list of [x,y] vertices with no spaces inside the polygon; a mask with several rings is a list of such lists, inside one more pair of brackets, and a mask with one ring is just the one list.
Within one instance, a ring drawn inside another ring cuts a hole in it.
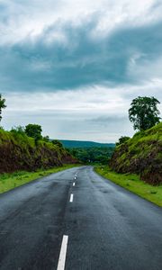
[{"label": "dark wet asphalt road with dashed white centre line", "polygon": [[91,166],[68,169],[1,194],[0,269],[64,266],[161,270],[161,209],[104,180]]}]

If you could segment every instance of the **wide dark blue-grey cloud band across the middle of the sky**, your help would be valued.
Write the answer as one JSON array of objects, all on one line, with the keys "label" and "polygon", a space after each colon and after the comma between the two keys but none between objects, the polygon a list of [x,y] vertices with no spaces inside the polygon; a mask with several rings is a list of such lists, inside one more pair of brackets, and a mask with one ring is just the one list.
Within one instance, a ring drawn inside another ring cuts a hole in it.
[{"label": "wide dark blue-grey cloud band across the middle of the sky", "polygon": [[[141,84],[147,80],[129,73],[130,59],[136,65],[162,55],[162,22],[140,27],[122,27],[107,37],[92,38],[97,16],[81,26],[46,28],[39,37],[0,47],[0,84],[3,92],[74,89],[85,85]],[[60,31],[67,41],[53,39]],[[133,67],[132,67],[133,68]],[[135,67],[136,68],[136,67]]]}]

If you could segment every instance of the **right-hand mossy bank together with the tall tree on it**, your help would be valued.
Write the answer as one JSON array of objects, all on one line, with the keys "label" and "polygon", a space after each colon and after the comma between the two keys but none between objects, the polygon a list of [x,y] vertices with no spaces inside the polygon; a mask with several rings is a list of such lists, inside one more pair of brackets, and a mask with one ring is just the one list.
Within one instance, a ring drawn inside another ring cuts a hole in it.
[{"label": "right-hand mossy bank together with the tall tree on it", "polygon": [[110,167],[119,174],[137,174],[148,184],[162,184],[162,122],[155,97],[132,100],[129,118],[137,133],[116,143]]}]

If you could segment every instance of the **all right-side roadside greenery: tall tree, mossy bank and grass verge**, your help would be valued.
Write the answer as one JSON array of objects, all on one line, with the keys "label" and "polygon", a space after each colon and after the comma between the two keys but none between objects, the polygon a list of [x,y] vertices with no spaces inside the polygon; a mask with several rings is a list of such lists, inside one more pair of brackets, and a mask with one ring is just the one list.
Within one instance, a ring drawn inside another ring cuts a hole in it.
[{"label": "all right-side roadside greenery: tall tree, mossy bank and grass verge", "polygon": [[109,166],[96,166],[94,170],[162,206],[162,122],[158,103],[156,98],[146,96],[132,101],[129,118],[137,132],[132,138],[121,136]]}]

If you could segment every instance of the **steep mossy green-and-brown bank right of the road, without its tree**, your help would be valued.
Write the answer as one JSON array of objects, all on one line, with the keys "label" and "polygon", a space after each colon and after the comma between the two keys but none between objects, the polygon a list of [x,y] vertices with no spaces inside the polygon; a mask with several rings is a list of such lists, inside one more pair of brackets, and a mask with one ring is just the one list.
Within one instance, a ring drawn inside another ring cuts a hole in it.
[{"label": "steep mossy green-and-brown bank right of the road, without its tree", "polygon": [[150,184],[162,183],[162,122],[115,148],[110,166],[117,173],[137,173]]}]

